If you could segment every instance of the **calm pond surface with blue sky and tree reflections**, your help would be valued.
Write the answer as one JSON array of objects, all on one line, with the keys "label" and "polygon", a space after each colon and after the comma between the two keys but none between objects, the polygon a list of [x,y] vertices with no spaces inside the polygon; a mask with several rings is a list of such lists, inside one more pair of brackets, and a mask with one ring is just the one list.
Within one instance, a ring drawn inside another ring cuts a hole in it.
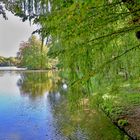
[{"label": "calm pond surface with blue sky and tree reflections", "polygon": [[53,72],[0,71],[0,140],[123,140],[99,111],[69,111]]}]

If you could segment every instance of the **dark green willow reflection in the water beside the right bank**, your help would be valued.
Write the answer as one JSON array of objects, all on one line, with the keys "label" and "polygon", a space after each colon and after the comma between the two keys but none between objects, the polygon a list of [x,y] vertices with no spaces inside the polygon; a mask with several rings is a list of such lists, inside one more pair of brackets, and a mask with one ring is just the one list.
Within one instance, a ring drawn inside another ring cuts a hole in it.
[{"label": "dark green willow reflection in the water beside the right bank", "polygon": [[79,104],[79,108],[71,107],[71,105],[77,104],[78,101],[67,99],[68,94],[70,93],[60,91],[47,96],[53,118],[56,121],[56,128],[66,140],[89,140],[93,137],[95,140],[103,137],[105,140],[124,138],[124,135],[112,125],[96,106],[92,109],[88,104],[83,106]]}]

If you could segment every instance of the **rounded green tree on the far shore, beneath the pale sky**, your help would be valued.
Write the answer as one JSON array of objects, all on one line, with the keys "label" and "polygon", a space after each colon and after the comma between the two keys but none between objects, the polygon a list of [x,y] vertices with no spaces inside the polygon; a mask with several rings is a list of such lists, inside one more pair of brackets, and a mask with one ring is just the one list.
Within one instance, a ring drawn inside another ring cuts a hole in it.
[{"label": "rounded green tree on the far shore, beneath the pale sky", "polygon": [[18,52],[19,66],[27,67],[28,69],[47,69],[47,51],[47,46],[41,49],[41,41],[32,36],[28,42],[20,44]]}]

